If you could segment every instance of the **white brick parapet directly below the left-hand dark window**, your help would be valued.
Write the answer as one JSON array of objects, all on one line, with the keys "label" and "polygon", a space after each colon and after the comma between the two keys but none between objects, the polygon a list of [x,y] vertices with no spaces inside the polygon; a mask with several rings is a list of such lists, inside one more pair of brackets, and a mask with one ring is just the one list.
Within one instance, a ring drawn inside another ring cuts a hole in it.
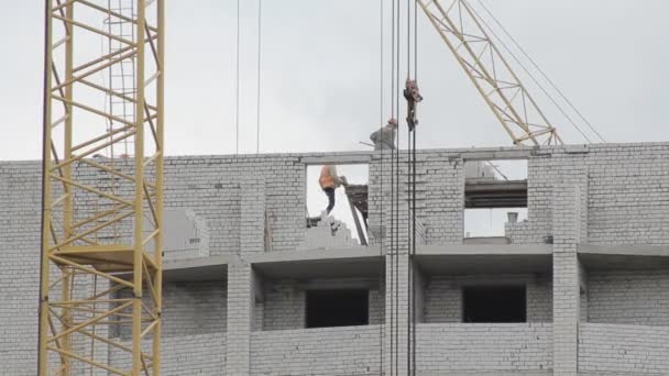
[{"label": "white brick parapet directly below the left-hand dark window", "polygon": [[259,331],[251,375],[379,375],[379,325]]}]

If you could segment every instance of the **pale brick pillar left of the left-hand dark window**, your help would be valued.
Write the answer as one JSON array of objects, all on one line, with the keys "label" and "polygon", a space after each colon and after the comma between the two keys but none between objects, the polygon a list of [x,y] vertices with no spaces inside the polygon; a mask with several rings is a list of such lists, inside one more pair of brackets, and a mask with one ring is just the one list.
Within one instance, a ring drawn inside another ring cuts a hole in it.
[{"label": "pale brick pillar left of the left-hand dark window", "polygon": [[228,266],[227,375],[249,375],[253,325],[254,276],[251,265],[241,259]]}]

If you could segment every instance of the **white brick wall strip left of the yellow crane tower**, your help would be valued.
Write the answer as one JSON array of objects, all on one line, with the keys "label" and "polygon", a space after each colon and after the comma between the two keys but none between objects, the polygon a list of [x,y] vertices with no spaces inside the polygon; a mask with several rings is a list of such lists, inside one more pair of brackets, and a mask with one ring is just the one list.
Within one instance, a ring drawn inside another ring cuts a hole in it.
[{"label": "white brick wall strip left of the yellow crane tower", "polygon": [[37,372],[40,167],[0,164],[0,364],[8,375]]}]

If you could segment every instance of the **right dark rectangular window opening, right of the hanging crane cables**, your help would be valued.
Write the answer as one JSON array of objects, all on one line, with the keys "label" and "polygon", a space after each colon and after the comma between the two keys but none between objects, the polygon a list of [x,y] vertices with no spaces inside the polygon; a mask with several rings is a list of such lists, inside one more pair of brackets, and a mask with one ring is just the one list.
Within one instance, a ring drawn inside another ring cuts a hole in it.
[{"label": "right dark rectangular window opening, right of the hanging crane cables", "polygon": [[526,322],[525,286],[462,288],[463,322]]}]

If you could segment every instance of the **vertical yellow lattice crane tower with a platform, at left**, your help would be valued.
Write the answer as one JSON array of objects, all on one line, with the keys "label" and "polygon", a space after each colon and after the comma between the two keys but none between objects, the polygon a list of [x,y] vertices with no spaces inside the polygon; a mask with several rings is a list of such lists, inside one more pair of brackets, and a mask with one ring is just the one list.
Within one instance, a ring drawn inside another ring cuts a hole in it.
[{"label": "vertical yellow lattice crane tower with a platform, at left", "polygon": [[39,374],[160,375],[164,0],[45,8]]}]

